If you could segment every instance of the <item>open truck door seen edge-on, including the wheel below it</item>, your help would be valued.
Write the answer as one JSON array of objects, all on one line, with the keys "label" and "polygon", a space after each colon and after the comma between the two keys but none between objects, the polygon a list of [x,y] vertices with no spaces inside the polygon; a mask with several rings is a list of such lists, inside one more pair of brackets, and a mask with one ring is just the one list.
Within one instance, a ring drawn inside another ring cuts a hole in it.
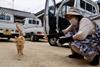
[{"label": "open truck door seen edge-on, including the wheel below it", "polygon": [[50,45],[56,45],[56,7],[55,0],[46,0],[44,14],[44,29]]}]

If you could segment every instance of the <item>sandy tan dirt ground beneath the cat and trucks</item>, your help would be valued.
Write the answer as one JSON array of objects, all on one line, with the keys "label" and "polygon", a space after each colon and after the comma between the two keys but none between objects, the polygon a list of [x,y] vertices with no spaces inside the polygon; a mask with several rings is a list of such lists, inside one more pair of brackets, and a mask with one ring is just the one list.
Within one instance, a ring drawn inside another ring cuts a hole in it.
[{"label": "sandy tan dirt ground beneath the cat and trucks", "polygon": [[45,41],[26,41],[24,55],[18,60],[15,43],[0,40],[0,67],[91,67],[85,60],[68,58],[69,54],[69,48],[50,46]]}]

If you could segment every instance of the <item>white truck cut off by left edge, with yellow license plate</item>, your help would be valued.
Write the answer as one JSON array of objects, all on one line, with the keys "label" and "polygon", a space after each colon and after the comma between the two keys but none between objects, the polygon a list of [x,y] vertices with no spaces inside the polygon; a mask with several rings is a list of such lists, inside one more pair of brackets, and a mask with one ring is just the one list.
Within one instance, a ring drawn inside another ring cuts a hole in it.
[{"label": "white truck cut off by left edge, with yellow license plate", "polygon": [[0,13],[0,37],[14,38],[18,36],[16,32],[16,23],[14,23],[14,16],[8,13]]}]

